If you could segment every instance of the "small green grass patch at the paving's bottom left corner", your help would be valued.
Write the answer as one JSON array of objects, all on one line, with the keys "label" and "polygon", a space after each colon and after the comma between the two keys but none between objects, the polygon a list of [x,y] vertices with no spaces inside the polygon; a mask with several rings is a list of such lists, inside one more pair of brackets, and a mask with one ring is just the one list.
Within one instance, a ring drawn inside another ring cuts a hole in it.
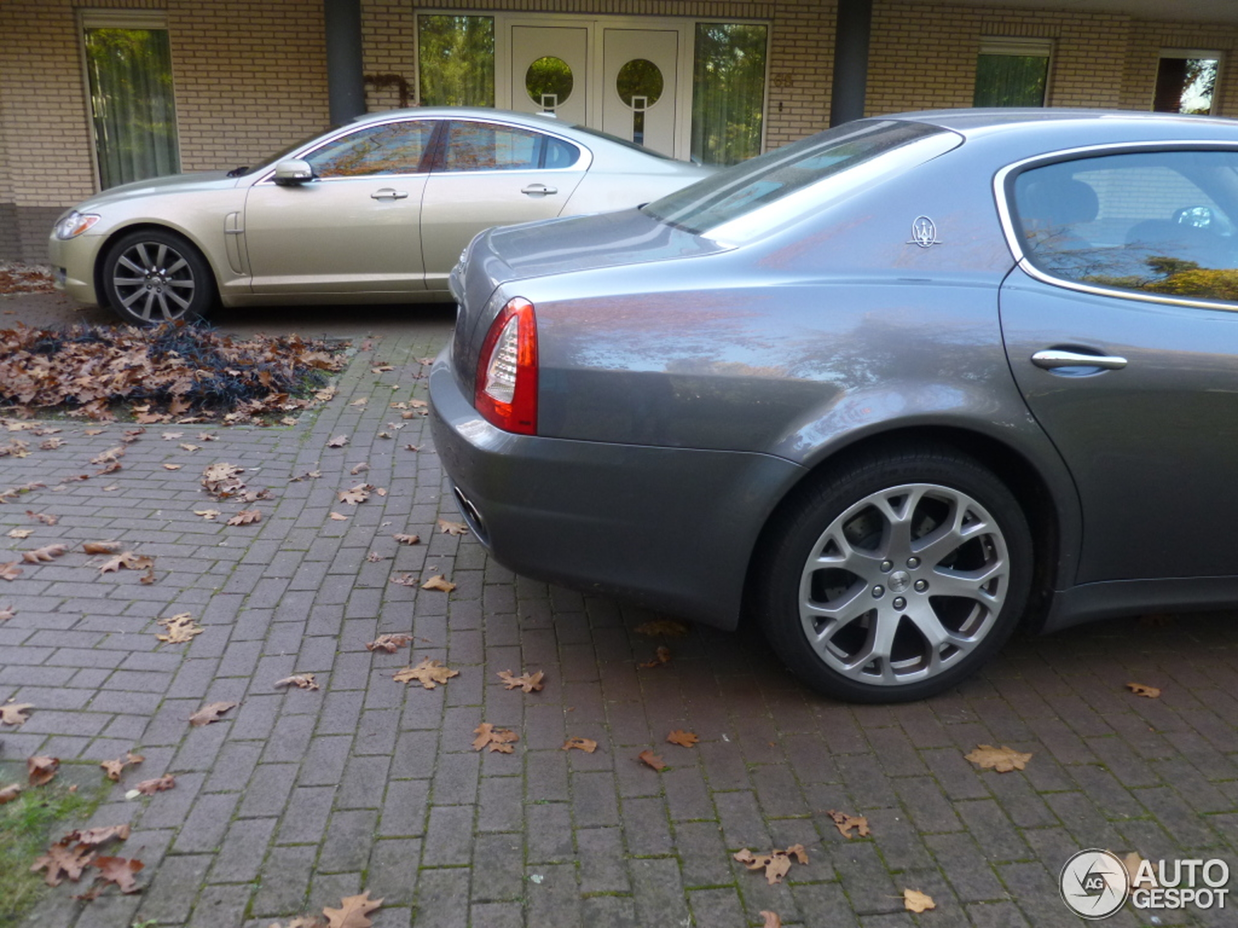
[{"label": "small green grass patch at the paving's bottom left corner", "polygon": [[94,812],[108,786],[93,792],[82,787],[74,793],[57,778],[0,806],[0,928],[16,928],[43,897],[48,887],[42,874],[30,872],[31,864],[63,831],[72,830],[67,823],[84,820]]}]

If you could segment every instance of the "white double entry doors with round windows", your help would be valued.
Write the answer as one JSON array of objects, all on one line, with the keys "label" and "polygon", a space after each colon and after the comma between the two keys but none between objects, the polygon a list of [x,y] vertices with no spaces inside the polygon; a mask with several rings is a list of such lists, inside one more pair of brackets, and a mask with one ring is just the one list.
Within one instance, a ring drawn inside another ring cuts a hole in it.
[{"label": "white double entry doors with round windows", "polygon": [[511,109],[552,113],[675,155],[678,31],[594,22],[510,28]]}]

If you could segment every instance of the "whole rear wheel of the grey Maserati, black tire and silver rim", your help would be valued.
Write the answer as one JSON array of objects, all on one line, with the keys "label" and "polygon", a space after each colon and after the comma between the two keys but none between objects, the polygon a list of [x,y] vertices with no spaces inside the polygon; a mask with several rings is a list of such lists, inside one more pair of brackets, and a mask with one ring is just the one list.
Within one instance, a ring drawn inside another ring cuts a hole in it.
[{"label": "whole rear wheel of the grey Maserati, black tire and silver rim", "polygon": [[823,474],[789,500],[763,544],[754,606],[766,637],[808,685],[849,702],[956,685],[1010,637],[1031,585],[1021,507],[948,447]]}]

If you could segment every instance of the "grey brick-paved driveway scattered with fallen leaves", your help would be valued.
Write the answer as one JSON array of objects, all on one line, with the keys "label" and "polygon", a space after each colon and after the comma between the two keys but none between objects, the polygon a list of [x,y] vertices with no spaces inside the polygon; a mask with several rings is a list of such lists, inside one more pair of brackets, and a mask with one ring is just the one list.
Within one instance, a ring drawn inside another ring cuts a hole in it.
[{"label": "grey brick-paved driveway scattered with fallen leaves", "polygon": [[[125,427],[87,436],[59,422],[61,448],[0,459],[0,488],[48,485],[0,506],[0,562],[36,543],[118,538],[154,556],[158,578],[100,574],[98,558],[71,553],[0,583],[0,608],[16,610],[0,622],[0,700],[36,707],[0,731],[4,782],[36,752],[92,782],[99,761],[146,757],[92,823],[132,823],[116,853],[145,861],[145,891],[80,903],[66,885],[31,928],[265,928],[361,890],[385,900],[378,928],[713,928],[763,924],[763,909],[803,926],[1066,926],[1080,919],[1057,874],[1080,849],[1238,866],[1232,615],[1016,640],[956,693],[898,708],[811,694],[750,634],[646,637],[635,627],[652,616],[515,578],[472,538],[436,530],[458,516],[428,428],[389,405],[425,398],[418,359],[449,320],[411,318],[358,338],[339,396],[293,427],[176,428],[217,436],[196,452],[151,427],[123,470],[67,484],[97,470],[89,459]],[[259,323],[284,324],[275,313]],[[394,370],[373,372],[380,363]],[[349,444],[328,448],[338,434]],[[271,490],[260,523],[194,515],[240,509],[202,491],[215,462]],[[369,470],[353,476],[360,462]],[[360,480],[386,495],[337,501]],[[4,536],[12,527],[36,531],[16,541]],[[422,543],[397,544],[396,532]],[[457,586],[389,582],[405,573]],[[156,620],[178,612],[206,632],[161,645]],[[411,650],[365,648],[385,632],[415,636]],[[639,668],[659,645],[671,661]],[[392,681],[422,657],[459,676],[435,690]],[[545,671],[546,687],[509,692],[505,669]],[[322,689],[274,685],[292,673],[317,674]],[[1138,698],[1129,681],[1164,695]],[[218,700],[239,707],[188,725]],[[482,721],[520,735],[511,755],[470,750]],[[701,742],[666,744],[671,729]],[[563,751],[567,736],[598,750]],[[978,744],[1034,756],[1021,772],[980,771],[963,758]],[[669,767],[638,762],[645,749]],[[124,798],[162,773],[175,789]],[[867,817],[870,836],[843,838],[832,809]],[[791,844],[810,862],[777,886],[732,859]],[[906,912],[904,888],[936,911]],[[1102,924],[1232,926],[1232,908],[1128,907]]]}]

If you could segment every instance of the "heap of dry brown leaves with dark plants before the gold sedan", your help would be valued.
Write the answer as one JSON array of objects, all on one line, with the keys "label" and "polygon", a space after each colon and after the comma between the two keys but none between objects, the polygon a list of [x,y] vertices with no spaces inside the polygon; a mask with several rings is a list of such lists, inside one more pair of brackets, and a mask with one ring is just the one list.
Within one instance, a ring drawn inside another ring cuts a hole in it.
[{"label": "heap of dry brown leaves with dark plants before the gold sedan", "polygon": [[202,325],[0,329],[0,407],[110,418],[116,403],[183,416],[288,412],[314,403],[339,345],[296,335],[236,339]]}]

